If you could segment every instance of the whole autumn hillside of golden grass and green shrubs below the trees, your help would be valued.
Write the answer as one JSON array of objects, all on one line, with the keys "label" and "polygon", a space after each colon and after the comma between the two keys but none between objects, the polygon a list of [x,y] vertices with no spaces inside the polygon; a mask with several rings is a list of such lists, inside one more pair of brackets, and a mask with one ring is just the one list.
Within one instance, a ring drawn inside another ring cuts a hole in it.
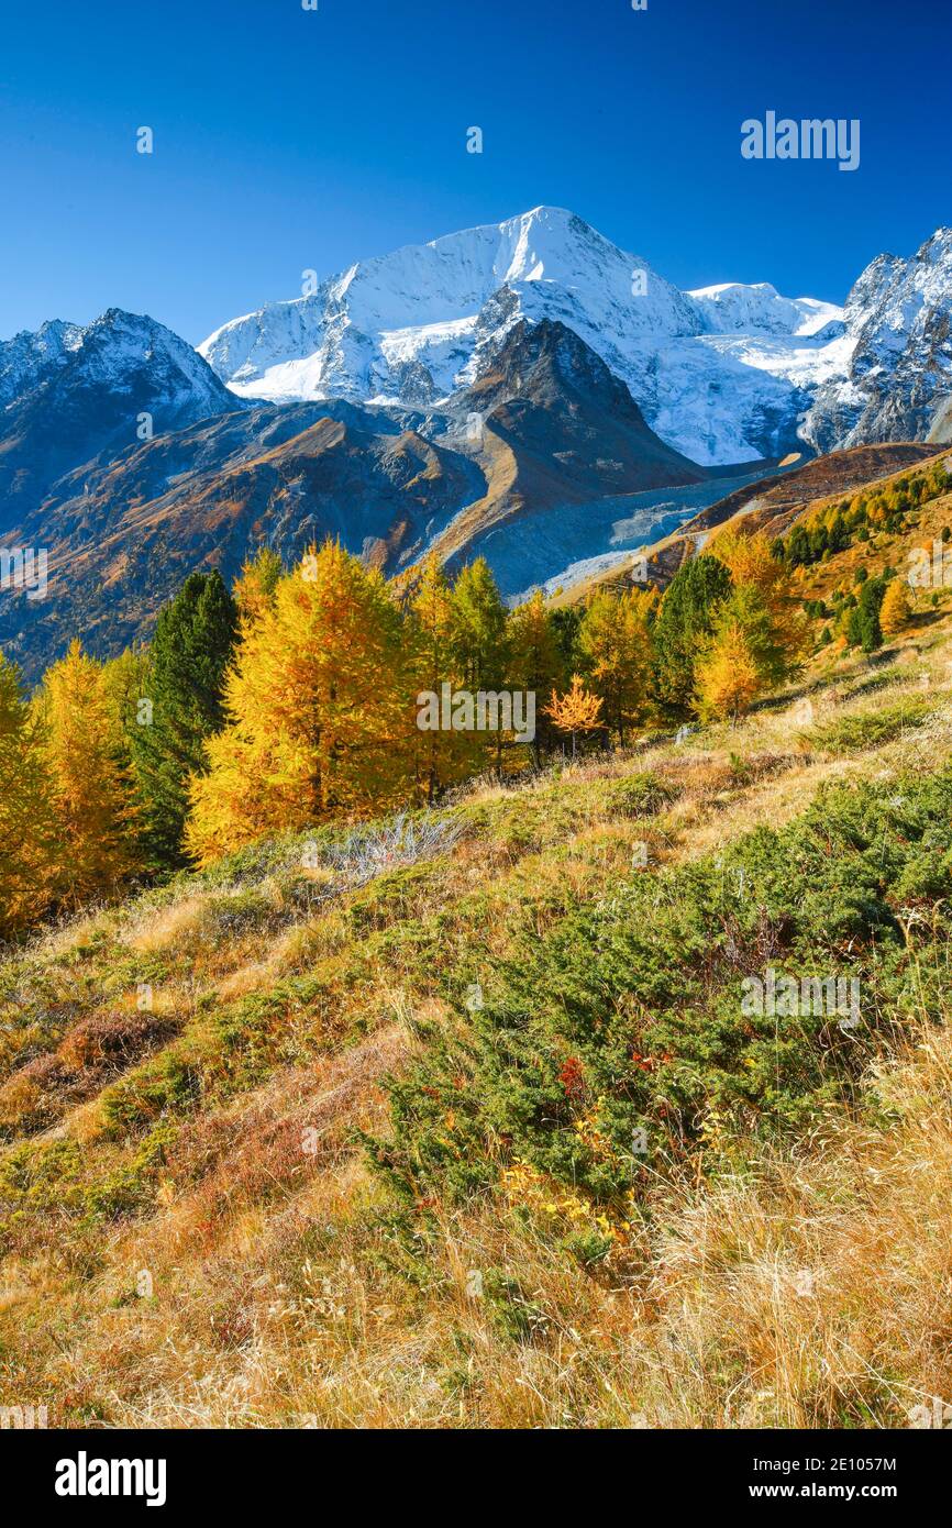
[{"label": "whole autumn hillside of golden grass and green shrubs below the trees", "polygon": [[[949,660],[940,607],[738,727],[11,953],[0,1401],[871,1427],[947,1395]],[[767,967],[857,981],[856,1022],[744,1013]]]}]

